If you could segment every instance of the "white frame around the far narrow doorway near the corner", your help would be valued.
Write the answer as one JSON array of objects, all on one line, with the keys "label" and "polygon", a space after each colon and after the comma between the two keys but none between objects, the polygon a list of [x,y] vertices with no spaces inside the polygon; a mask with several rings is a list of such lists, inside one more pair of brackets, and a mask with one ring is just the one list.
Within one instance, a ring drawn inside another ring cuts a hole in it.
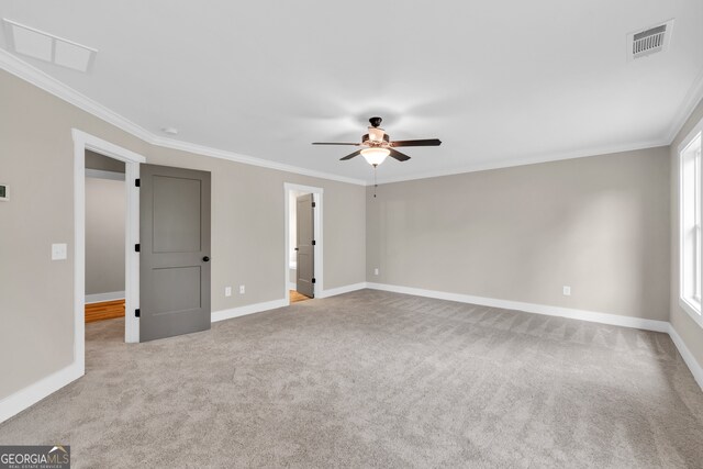
[{"label": "white frame around the far narrow doorway near the corner", "polygon": [[290,193],[291,191],[300,191],[300,192],[308,192],[308,193],[312,193],[312,200],[315,202],[315,210],[313,212],[314,214],[314,230],[313,230],[313,236],[315,238],[315,246],[314,246],[314,253],[315,253],[315,257],[314,257],[314,269],[315,269],[315,283],[314,283],[314,292],[315,292],[315,298],[322,298],[322,284],[323,284],[323,276],[322,276],[322,254],[324,253],[324,242],[322,238],[322,215],[323,215],[323,205],[322,205],[322,193],[324,192],[324,189],[322,188],[316,188],[316,187],[312,187],[312,186],[301,186],[301,185],[294,185],[294,183],[290,183],[290,182],[283,182],[283,193],[284,193],[284,198],[283,198],[283,206],[284,206],[284,214],[286,214],[286,230],[284,230],[284,235],[286,235],[286,255],[283,256],[283,265],[286,267],[286,277],[283,278],[284,281],[284,287],[283,287],[283,298],[286,299],[286,305],[290,304],[290,294],[288,294],[288,284],[289,284],[289,278],[290,278]]}]

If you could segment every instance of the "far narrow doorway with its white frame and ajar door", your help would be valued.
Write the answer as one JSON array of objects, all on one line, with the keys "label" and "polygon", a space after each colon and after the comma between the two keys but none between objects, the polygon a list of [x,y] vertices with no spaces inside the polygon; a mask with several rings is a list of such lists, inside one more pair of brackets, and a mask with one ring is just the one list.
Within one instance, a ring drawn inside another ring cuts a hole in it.
[{"label": "far narrow doorway with its white frame and ajar door", "polygon": [[321,188],[284,185],[286,298],[290,303],[322,292]]}]

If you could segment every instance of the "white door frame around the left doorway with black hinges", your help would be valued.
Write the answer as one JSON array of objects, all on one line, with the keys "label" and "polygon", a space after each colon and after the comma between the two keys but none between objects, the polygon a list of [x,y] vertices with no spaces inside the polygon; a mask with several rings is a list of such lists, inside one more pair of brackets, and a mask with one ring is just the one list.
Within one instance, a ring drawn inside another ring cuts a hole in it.
[{"label": "white door frame around the left doorway with black hinges", "polygon": [[124,161],[125,167],[125,269],[124,340],[140,342],[140,321],[131,314],[140,308],[140,256],[132,246],[140,239],[140,193],[134,180],[146,158],[134,152],[71,129],[74,137],[74,360],[86,370],[86,149]]}]

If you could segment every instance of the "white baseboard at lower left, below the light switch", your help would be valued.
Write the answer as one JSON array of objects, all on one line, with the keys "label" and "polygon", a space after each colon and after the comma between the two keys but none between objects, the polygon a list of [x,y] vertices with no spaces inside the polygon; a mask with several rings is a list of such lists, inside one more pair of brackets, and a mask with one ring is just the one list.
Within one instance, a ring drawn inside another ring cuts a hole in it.
[{"label": "white baseboard at lower left, below the light switch", "polygon": [[42,399],[58,391],[71,381],[83,376],[83,370],[74,362],[66,368],[58,370],[34,384],[16,391],[0,401],[0,423],[19,414],[31,405],[36,404]]}]

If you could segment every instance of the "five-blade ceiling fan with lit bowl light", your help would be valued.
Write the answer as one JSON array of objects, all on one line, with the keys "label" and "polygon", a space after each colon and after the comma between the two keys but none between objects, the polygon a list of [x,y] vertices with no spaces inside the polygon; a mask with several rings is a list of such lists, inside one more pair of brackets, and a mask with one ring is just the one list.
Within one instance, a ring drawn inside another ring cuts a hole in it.
[{"label": "five-blade ceiling fan with lit bowl light", "polygon": [[410,156],[400,153],[395,148],[402,146],[439,146],[442,142],[439,138],[425,138],[425,139],[414,139],[414,141],[395,141],[391,142],[390,136],[383,131],[383,129],[379,127],[381,125],[381,118],[371,118],[369,122],[371,125],[369,126],[369,133],[365,134],[361,137],[361,143],[347,143],[347,142],[315,142],[313,145],[354,145],[361,146],[364,148],[357,149],[350,155],[347,155],[343,158],[339,158],[341,161],[352,159],[357,155],[361,155],[369,165],[376,168],[378,165],[383,163],[387,156],[391,156],[392,158],[398,159],[399,161],[406,161],[410,159]]}]

